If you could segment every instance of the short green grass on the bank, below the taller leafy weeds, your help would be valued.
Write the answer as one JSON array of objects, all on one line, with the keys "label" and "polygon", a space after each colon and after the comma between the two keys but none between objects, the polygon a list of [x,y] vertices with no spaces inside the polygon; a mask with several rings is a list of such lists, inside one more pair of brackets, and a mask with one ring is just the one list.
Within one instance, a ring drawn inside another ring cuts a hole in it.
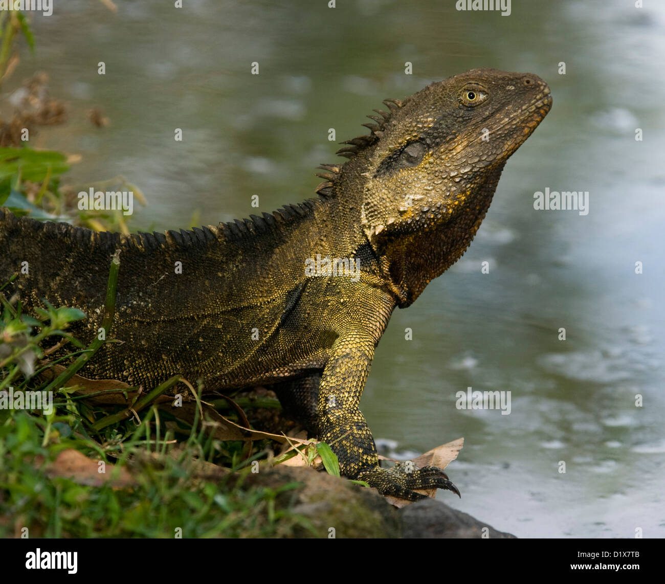
[{"label": "short green grass on the bank, below the taller leafy weeds", "polygon": [[[25,411],[5,416],[0,424],[1,537],[21,537],[26,530],[30,537],[289,537],[310,529],[289,509],[296,483],[243,487],[247,470],[218,481],[198,478],[193,462],[206,455],[205,440],[201,444],[194,433],[174,451],[177,456],[151,460],[142,427],[124,434],[116,428],[100,444],[76,431],[78,424],[74,414],[54,414],[50,420]],[[170,450],[168,435],[151,442],[164,454]],[[132,485],[88,486],[53,476],[49,469],[69,448],[95,456],[107,468],[112,462],[130,466]]]}]

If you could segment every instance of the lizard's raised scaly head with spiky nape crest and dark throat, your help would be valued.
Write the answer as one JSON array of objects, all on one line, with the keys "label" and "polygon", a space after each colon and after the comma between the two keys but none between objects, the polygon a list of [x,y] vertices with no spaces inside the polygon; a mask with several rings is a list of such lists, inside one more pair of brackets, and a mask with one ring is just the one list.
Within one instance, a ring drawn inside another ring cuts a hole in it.
[{"label": "lizard's raised scaly head with spiky nape crest and dark throat", "polygon": [[348,162],[321,166],[333,174],[319,174],[319,193],[360,195],[362,231],[390,266],[400,306],[464,253],[503,165],[551,103],[534,74],[473,69],[384,101],[390,112],[369,116],[371,133],[338,151]]}]

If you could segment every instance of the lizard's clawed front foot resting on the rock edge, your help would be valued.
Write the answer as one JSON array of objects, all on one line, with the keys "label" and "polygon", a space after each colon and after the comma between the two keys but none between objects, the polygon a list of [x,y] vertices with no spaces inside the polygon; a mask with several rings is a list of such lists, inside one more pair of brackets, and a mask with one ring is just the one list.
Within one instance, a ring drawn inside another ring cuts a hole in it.
[{"label": "lizard's clawed front foot resting on the rock edge", "polygon": [[458,488],[448,476],[436,466],[416,468],[411,461],[398,462],[392,468],[372,468],[358,475],[382,495],[391,495],[408,501],[426,499],[427,496],[416,493],[416,489],[448,489],[462,498]]}]

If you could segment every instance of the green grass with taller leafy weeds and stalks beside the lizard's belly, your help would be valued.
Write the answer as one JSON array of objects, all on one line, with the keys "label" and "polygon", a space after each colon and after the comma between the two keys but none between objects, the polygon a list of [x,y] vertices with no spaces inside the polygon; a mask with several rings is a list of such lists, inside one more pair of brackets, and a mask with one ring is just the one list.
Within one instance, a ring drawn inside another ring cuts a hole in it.
[{"label": "green grass with taller leafy weeds and stalks beside the lizard's belly", "polygon": [[[115,262],[102,323],[106,329],[112,323],[117,277]],[[248,450],[244,442],[215,440],[209,424],[198,423],[198,410],[189,425],[160,414],[153,402],[178,376],[144,394],[131,409],[109,413],[108,407],[74,396],[76,386],[68,387],[103,344],[97,338],[86,349],[67,355],[71,363],[57,378],[48,382],[41,376],[48,357],[43,343],[55,337],[82,347],[66,328],[84,314],[47,305],[35,318],[23,315],[20,303],[15,307],[4,295],[0,301],[0,388],[5,399],[9,391],[55,394],[50,412],[11,409],[0,401],[0,537],[21,537],[26,530],[31,537],[311,533],[309,521],[291,511],[299,484],[245,485],[248,465],[267,454],[265,441],[254,442]],[[129,411],[134,415],[128,416]],[[84,463],[74,469],[59,458],[72,450]],[[208,465],[203,471],[202,463]],[[125,472],[124,481],[118,480],[120,471]]]}]

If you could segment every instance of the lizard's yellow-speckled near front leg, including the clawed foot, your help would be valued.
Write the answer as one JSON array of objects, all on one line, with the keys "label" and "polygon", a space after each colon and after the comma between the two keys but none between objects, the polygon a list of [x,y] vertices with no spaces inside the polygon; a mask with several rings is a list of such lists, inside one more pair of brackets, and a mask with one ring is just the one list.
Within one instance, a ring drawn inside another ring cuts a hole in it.
[{"label": "lizard's yellow-speckled near front leg, including the clawed foot", "polygon": [[332,346],[319,387],[319,433],[337,455],[342,475],[366,481],[383,495],[416,501],[426,498],[416,489],[449,489],[448,476],[434,466],[420,469],[397,465],[380,468],[376,445],[358,408],[374,357],[374,341],[362,333],[347,333]]}]

